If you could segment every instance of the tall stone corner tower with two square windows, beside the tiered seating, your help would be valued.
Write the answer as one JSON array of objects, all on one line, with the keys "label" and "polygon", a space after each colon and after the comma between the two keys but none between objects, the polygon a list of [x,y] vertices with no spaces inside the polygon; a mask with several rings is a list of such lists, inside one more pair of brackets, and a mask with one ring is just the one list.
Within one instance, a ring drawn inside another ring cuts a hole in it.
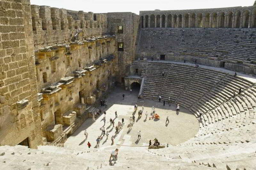
[{"label": "tall stone corner tower with two square windows, beside the tiered seating", "polygon": [[[130,65],[135,60],[136,40],[139,32],[139,15],[131,12],[110,12],[108,16],[108,33],[116,35],[118,43],[124,43],[124,50],[117,51],[116,81],[124,85],[124,77],[130,74]],[[123,33],[117,32],[117,27],[123,26]]]}]

